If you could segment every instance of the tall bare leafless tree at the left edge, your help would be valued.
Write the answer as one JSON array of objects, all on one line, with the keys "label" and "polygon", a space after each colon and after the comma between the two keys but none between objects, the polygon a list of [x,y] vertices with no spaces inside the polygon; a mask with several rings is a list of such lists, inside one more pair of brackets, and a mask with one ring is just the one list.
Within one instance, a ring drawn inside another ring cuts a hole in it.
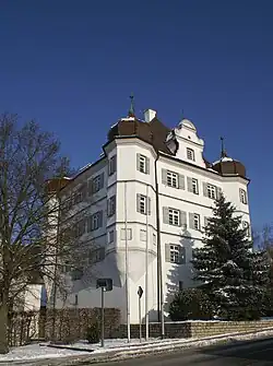
[{"label": "tall bare leafless tree at the left edge", "polygon": [[59,229],[68,204],[58,192],[68,174],[69,162],[51,133],[34,121],[21,127],[16,115],[0,116],[0,353],[9,350],[9,310],[34,273],[61,286],[59,263],[76,261],[74,228]]}]

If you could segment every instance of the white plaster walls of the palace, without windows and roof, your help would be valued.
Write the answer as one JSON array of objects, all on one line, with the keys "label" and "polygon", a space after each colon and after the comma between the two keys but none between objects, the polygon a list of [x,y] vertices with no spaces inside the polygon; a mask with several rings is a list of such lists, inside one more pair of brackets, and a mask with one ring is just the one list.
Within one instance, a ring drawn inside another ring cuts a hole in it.
[{"label": "white plaster walls of the palace, without windows and roof", "polygon": [[[190,131],[183,130],[185,133]],[[193,133],[193,132],[192,132]],[[194,134],[194,133],[193,133]],[[183,140],[187,138],[182,137]],[[194,140],[194,137],[191,137]],[[194,142],[194,141],[193,141]],[[193,143],[189,142],[189,146]],[[200,146],[200,158],[202,152],[202,140],[198,140]],[[183,142],[183,147],[186,146]],[[181,151],[181,150],[180,150]],[[100,306],[100,292],[95,288],[97,278],[112,278],[114,291],[106,294],[106,306],[118,307],[121,309],[122,321],[126,322],[126,240],[121,239],[121,229],[124,228],[124,210],[127,210],[127,228],[132,231],[132,239],[128,240],[129,249],[129,298],[130,298],[130,318],[131,322],[139,321],[138,308],[138,288],[142,286],[144,294],[142,297],[142,315],[145,315],[145,259],[146,243],[140,239],[140,231],[149,227],[149,311],[150,319],[157,319],[157,247],[154,245],[153,234],[156,233],[156,199],[155,199],[155,177],[154,161],[155,154],[152,147],[138,139],[117,140],[107,146],[107,158],[94,173],[88,172],[88,177],[99,174],[102,169],[105,172],[105,189],[97,193],[97,198],[93,199],[92,204],[86,209],[90,213],[94,213],[100,209],[105,212],[104,226],[92,234],[86,234],[85,240],[91,245],[95,243],[98,246],[106,246],[106,259],[94,265],[91,270],[90,278],[84,284],[74,284],[74,292],[70,295],[67,306],[74,306],[75,294],[78,294],[79,307],[97,307]],[[136,154],[142,153],[150,158],[150,174],[142,174],[136,169]],[[117,156],[117,173],[108,176],[107,162],[112,156]],[[197,155],[195,155],[197,157]],[[198,162],[197,162],[198,163]],[[199,161],[203,166],[203,161]],[[169,169],[185,175],[186,189],[176,189],[162,184],[162,169]],[[187,177],[197,178],[199,180],[199,194],[188,191]],[[201,169],[192,165],[183,164],[181,161],[170,160],[161,156],[157,163],[157,178],[159,188],[159,216],[161,216],[161,241],[162,241],[162,259],[163,259],[163,281],[164,295],[166,303],[169,300],[169,293],[178,287],[179,281],[183,282],[185,287],[192,286],[192,269],[190,264],[192,248],[202,245],[202,233],[189,228],[189,212],[199,213],[201,216],[201,227],[204,225],[204,217],[212,215],[213,200],[203,196],[203,181],[221,187],[226,198],[233,201],[238,210],[249,217],[248,205],[240,204],[239,188],[247,190],[247,182],[237,177],[223,178],[219,175],[207,169]],[[124,187],[127,193],[124,194]],[[146,194],[149,187],[149,197],[151,197],[151,215],[142,215],[136,212],[136,193]],[[107,198],[116,194],[116,214],[107,217]],[[163,223],[163,206],[171,206],[187,212],[188,227],[181,231]],[[245,217],[244,216],[244,217]],[[106,219],[107,217],[107,219]],[[147,220],[146,220],[147,219]],[[247,220],[246,220],[247,221]],[[107,243],[107,233],[115,231],[115,240]],[[173,264],[165,262],[165,244],[182,244],[186,247],[186,264]],[[58,306],[62,306],[59,303]],[[167,309],[167,307],[166,307]]]}]

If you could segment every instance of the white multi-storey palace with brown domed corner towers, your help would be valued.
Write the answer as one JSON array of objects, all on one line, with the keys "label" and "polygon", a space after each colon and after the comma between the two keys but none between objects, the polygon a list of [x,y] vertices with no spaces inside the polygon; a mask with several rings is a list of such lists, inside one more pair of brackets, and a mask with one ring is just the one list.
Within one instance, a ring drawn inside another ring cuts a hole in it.
[{"label": "white multi-storey palace with brown domed corner towers", "polygon": [[131,323],[139,321],[139,286],[143,317],[157,321],[162,308],[167,315],[174,291],[194,286],[192,248],[202,245],[221,191],[250,235],[245,166],[224,150],[217,162],[209,163],[203,150],[190,120],[169,129],[152,109],[141,120],[131,107],[111,127],[100,158],[62,182],[73,217],[85,212],[76,231],[92,256],[82,278],[71,278],[68,269],[72,290],[64,303],[58,297],[57,307],[99,307],[96,280],[110,278],[114,288],[105,294],[105,306],[119,308],[123,322],[128,317]]}]

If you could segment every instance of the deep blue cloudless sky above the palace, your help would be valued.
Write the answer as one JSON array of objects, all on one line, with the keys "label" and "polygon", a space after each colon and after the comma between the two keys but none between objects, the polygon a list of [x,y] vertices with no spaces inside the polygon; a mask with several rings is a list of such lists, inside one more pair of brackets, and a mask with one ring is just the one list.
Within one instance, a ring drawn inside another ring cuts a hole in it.
[{"label": "deep blue cloudless sky above the palace", "polygon": [[251,178],[254,227],[273,221],[271,0],[0,0],[0,113],[56,132],[74,166],[109,127],[181,110],[216,160],[219,137]]}]

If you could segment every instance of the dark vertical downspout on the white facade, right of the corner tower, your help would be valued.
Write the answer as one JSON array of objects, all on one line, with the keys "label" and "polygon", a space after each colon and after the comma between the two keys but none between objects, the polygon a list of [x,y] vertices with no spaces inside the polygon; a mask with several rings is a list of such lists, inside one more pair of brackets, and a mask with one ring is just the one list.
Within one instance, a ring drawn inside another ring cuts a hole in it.
[{"label": "dark vertical downspout on the white facade, right of the corner tower", "polygon": [[164,292],[163,292],[163,273],[162,273],[162,244],[161,244],[161,216],[159,216],[159,192],[157,179],[157,161],[159,154],[157,153],[154,167],[155,167],[155,204],[156,204],[156,232],[157,232],[157,315],[158,322],[161,322],[161,337],[164,339]]}]

